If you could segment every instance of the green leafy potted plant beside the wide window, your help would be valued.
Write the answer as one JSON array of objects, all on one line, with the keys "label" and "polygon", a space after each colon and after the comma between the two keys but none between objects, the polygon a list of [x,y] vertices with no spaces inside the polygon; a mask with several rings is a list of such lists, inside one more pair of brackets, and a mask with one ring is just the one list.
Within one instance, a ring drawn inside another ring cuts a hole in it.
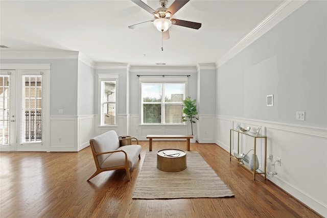
[{"label": "green leafy potted plant beside the wide window", "polygon": [[195,124],[195,119],[198,119],[196,115],[198,112],[196,111],[196,99],[191,100],[191,97],[186,98],[183,101],[183,113],[185,116],[182,116],[183,122],[190,121],[191,123],[191,132],[193,136],[193,143],[196,141],[196,135],[193,134],[193,124]]}]

